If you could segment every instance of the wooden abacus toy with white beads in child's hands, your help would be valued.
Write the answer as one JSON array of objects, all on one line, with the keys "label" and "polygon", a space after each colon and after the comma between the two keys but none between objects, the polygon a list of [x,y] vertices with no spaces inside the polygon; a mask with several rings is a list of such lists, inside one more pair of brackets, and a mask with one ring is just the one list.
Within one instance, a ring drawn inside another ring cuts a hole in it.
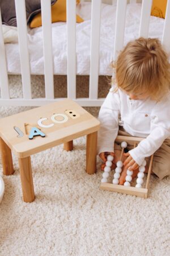
[{"label": "wooden abacus toy with white beads in child's hands", "polygon": [[126,172],[126,178],[125,178],[126,181],[125,181],[124,185],[118,184],[120,174],[122,172],[123,162],[121,159],[122,159],[124,149],[128,146],[128,142],[133,143],[134,147],[135,147],[140,141],[142,141],[142,139],[143,138],[139,138],[139,137],[117,136],[116,142],[121,143],[121,147],[122,147],[120,160],[118,160],[118,162],[116,164],[117,167],[116,167],[115,173],[113,175],[112,183],[108,183],[109,172],[111,171],[112,161],[114,159],[114,156],[108,155],[106,166],[105,166],[104,172],[103,172],[103,179],[101,179],[100,189],[147,198],[148,185],[149,185],[149,180],[150,180],[150,176],[151,176],[152,162],[153,162],[154,155],[151,155],[151,157],[150,157],[150,164],[148,167],[148,174],[147,174],[145,188],[142,188],[142,184],[143,184],[143,177],[145,176],[144,172],[145,172],[146,160],[144,160],[143,163],[141,164],[141,166],[139,167],[139,172],[137,175],[138,176],[137,184],[135,185],[135,187],[132,187],[130,184],[130,182],[132,180],[131,176],[133,175],[133,171],[130,171],[130,170],[127,170],[127,172]]}]

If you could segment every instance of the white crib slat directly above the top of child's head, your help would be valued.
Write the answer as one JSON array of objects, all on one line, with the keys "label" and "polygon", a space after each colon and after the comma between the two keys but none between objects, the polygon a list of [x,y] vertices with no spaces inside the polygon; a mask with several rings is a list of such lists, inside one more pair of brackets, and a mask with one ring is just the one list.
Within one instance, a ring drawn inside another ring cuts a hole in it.
[{"label": "white crib slat directly above the top of child's head", "polygon": [[139,37],[140,36],[142,36],[143,38],[148,37],[151,6],[152,6],[152,0],[143,0],[142,1],[141,20],[140,20],[140,26],[139,26]]}]

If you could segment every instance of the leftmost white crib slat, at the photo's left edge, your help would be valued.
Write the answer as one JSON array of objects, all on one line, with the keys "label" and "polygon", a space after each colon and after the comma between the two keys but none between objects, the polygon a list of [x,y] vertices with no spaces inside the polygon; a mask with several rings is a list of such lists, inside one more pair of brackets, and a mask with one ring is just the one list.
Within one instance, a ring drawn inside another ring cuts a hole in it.
[{"label": "leftmost white crib slat, at the photo's left edge", "polygon": [[2,33],[2,19],[1,19],[1,9],[0,9],[0,88],[1,88],[1,98],[9,99],[10,92],[8,87],[8,75],[7,75],[7,63],[5,55],[5,45],[3,41]]}]

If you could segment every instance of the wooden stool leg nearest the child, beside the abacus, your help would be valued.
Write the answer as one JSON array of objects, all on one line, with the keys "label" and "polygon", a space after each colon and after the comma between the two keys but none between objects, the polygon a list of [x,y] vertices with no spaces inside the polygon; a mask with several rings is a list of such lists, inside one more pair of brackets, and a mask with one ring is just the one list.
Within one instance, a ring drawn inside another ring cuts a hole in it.
[{"label": "wooden stool leg nearest the child, beside the abacus", "polygon": [[97,131],[87,135],[86,144],[86,172],[94,174],[96,172],[96,151],[97,151]]}]

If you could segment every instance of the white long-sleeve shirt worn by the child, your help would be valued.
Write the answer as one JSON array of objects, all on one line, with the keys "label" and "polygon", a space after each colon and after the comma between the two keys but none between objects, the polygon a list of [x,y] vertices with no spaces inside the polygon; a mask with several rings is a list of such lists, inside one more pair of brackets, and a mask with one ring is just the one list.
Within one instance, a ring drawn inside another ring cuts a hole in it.
[{"label": "white long-sleeve shirt worn by the child", "polygon": [[162,101],[130,100],[118,89],[110,90],[99,112],[101,123],[97,139],[97,152],[114,152],[114,140],[118,125],[132,136],[143,139],[137,147],[129,151],[139,166],[147,156],[154,154],[163,141],[170,137],[170,93]]}]

